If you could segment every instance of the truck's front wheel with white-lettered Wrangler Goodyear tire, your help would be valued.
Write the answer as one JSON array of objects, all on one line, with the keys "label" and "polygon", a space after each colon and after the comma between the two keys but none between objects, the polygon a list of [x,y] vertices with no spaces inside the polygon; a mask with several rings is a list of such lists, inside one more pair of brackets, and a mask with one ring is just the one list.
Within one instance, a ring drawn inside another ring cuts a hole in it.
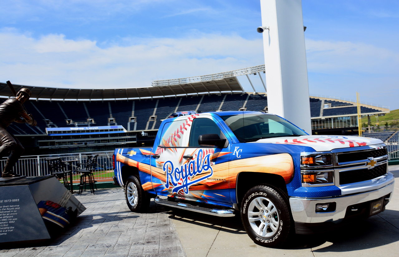
[{"label": "truck's front wheel with white-lettered Wrangler Goodyear tire", "polygon": [[290,232],[288,198],[282,192],[259,185],[248,190],[241,204],[245,231],[258,245],[281,247]]}]

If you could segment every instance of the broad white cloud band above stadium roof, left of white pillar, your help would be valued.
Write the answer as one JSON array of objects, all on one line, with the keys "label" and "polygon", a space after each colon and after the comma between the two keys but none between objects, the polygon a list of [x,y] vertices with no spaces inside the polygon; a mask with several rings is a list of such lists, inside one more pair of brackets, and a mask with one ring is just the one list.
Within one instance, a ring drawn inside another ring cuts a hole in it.
[{"label": "broad white cloud band above stadium roof, left of white pillar", "polygon": [[[174,79],[241,69],[263,63],[262,40],[237,35],[125,39],[124,46],[100,48],[64,35],[40,39],[12,30],[0,32],[0,80],[70,88],[148,87]],[[139,43],[137,43],[139,42]]]}]

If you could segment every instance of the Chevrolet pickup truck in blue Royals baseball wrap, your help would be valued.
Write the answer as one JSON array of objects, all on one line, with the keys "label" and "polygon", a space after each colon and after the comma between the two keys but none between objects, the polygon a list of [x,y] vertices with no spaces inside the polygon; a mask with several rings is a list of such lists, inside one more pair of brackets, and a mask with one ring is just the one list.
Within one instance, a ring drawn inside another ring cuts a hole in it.
[{"label": "Chevrolet pickup truck in blue Royals baseball wrap", "polygon": [[392,196],[386,146],[358,136],[310,136],[272,114],[199,113],[166,119],[152,148],[115,150],[115,184],[132,212],[150,198],[217,216],[241,213],[259,245],[378,214]]}]

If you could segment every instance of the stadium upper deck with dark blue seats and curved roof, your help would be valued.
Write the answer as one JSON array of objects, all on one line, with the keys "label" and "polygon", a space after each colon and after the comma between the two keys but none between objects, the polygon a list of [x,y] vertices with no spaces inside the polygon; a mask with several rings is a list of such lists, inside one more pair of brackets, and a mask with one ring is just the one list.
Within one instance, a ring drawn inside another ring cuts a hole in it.
[{"label": "stadium upper deck with dark blue seats and curved roof", "polygon": [[[46,128],[123,126],[128,132],[157,130],[160,120],[176,111],[267,111],[266,85],[261,74],[265,65],[188,77],[153,81],[152,87],[128,89],[65,89],[14,85],[32,90],[26,103],[38,127],[13,124],[14,134],[43,135]],[[1,97],[2,96],[2,97]],[[0,101],[12,97],[0,83]],[[36,100],[36,101],[35,101]],[[310,97],[314,132],[340,133],[357,125],[356,103]],[[381,115],[388,108],[362,105],[362,115]]]}]

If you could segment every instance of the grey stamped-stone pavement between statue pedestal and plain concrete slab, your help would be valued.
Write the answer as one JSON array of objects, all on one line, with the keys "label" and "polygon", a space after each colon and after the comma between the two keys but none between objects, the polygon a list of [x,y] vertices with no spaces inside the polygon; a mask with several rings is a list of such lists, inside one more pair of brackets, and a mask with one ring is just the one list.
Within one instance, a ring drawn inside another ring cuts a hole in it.
[{"label": "grey stamped-stone pavement between statue pedestal and plain concrete slab", "polygon": [[75,196],[87,210],[63,235],[49,246],[0,250],[0,257],[185,256],[162,206],[152,202],[148,213],[132,213],[122,188]]}]

